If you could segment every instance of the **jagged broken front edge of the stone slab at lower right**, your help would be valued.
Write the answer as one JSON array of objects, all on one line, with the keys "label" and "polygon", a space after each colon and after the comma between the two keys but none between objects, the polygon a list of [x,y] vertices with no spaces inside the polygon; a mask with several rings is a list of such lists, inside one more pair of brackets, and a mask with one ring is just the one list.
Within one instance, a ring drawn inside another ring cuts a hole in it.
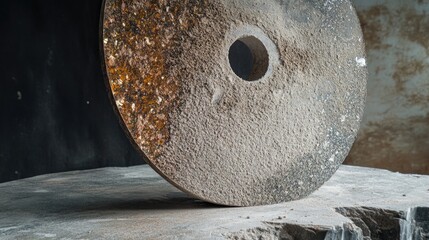
[{"label": "jagged broken front edge of the stone slab at lower right", "polygon": [[429,208],[394,211],[370,207],[340,207],[336,212],[352,223],[343,226],[300,225],[264,222],[257,227],[232,233],[232,240],[428,240]]}]

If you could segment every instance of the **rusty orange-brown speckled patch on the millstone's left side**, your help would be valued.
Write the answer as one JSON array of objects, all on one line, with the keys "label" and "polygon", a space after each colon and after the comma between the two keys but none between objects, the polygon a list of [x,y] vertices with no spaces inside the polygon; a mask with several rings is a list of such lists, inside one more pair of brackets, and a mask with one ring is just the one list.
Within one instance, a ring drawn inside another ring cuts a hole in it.
[{"label": "rusty orange-brown speckled patch on the millstone's left side", "polygon": [[148,157],[169,141],[169,112],[179,102],[172,56],[198,23],[206,1],[107,0],[103,21],[106,71],[118,111]]}]

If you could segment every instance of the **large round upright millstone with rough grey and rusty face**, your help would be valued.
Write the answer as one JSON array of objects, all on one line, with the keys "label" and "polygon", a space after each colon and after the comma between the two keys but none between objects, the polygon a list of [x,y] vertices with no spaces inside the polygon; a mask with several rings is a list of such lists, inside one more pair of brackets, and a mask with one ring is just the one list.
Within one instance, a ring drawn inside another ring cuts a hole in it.
[{"label": "large round upright millstone with rough grey and rusty face", "polygon": [[231,206],[307,196],[353,144],[364,44],[346,0],[106,0],[112,97],[149,164]]}]

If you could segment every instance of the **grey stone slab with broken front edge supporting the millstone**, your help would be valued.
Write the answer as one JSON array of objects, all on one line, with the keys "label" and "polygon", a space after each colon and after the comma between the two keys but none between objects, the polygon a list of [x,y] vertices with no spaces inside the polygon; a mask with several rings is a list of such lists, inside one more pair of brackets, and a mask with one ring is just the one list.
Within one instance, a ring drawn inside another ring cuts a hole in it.
[{"label": "grey stone slab with broken front edge supporting the millstone", "polygon": [[0,185],[0,239],[428,239],[429,176],[342,166],[309,197],[231,208],[148,166]]}]

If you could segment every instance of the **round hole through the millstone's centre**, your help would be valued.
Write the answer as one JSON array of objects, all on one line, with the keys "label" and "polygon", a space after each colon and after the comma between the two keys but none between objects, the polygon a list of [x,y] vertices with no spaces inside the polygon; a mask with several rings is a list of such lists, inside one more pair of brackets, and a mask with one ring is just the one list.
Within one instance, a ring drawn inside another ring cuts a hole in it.
[{"label": "round hole through the millstone's centre", "polygon": [[245,81],[257,81],[268,71],[267,48],[254,36],[237,39],[229,48],[228,58],[234,73]]}]

